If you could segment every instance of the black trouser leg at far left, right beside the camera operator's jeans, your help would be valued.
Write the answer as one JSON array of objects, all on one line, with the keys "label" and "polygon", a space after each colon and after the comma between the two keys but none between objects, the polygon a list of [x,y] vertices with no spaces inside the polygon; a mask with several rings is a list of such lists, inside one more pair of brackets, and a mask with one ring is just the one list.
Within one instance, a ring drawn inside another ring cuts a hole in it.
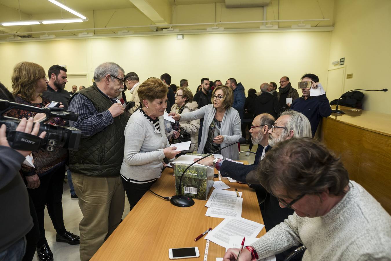
[{"label": "black trouser leg at far left, right beside the camera operator's jeans", "polygon": [[39,225],[38,225],[38,217],[37,212],[35,211],[34,203],[29,195],[29,203],[30,203],[30,215],[32,217],[32,223],[34,226],[32,229],[26,234],[26,252],[23,256],[22,261],[32,261],[34,258],[35,250],[37,248],[37,243],[39,241]]}]

